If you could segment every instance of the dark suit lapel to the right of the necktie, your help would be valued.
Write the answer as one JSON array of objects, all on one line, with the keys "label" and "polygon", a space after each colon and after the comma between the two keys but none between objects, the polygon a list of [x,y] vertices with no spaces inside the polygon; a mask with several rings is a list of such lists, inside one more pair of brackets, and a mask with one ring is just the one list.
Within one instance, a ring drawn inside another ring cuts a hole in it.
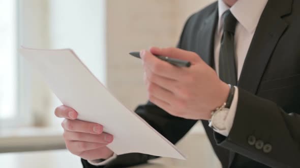
[{"label": "dark suit lapel to the right of the necktie", "polygon": [[292,0],[268,1],[254,33],[238,86],[256,94],[265,67],[288,24],[281,16],[290,13]]}]

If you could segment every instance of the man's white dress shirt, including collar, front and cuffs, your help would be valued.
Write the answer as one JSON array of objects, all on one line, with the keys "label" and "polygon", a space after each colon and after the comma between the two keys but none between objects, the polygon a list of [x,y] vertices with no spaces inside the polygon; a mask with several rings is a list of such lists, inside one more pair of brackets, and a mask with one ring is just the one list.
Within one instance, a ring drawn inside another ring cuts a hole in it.
[{"label": "man's white dress shirt, including collar, front and cuffs", "polygon": [[[216,71],[219,74],[219,53],[221,47],[221,37],[223,34],[223,14],[228,9],[231,11],[232,15],[236,18],[237,24],[234,35],[234,48],[235,48],[235,62],[237,69],[237,77],[241,75],[242,67],[244,65],[244,61],[246,58],[246,54],[250,47],[250,43],[252,41],[252,37],[256,30],[258,21],[260,16],[264,10],[268,0],[238,0],[231,8],[229,8],[223,0],[218,0],[218,10],[219,10],[219,21],[218,27],[216,29],[215,34],[215,50],[214,50],[214,58],[215,58],[215,67]],[[230,106],[230,109],[227,113],[227,117],[225,120],[220,120],[218,122],[223,122],[225,124],[226,129],[222,131],[217,131],[219,134],[224,136],[228,136],[229,132],[232,128],[236,106],[238,100],[238,89],[235,88],[234,97]],[[93,165],[105,165],[109,161],[113,160],[116,155],[113,155],[111,158],[99,162],[99,160],[88,161]]]}]

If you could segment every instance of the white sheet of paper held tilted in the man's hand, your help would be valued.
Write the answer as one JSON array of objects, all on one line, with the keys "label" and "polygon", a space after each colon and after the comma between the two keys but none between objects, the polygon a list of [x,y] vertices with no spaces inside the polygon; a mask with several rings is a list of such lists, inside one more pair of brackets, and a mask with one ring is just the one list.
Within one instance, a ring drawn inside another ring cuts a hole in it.
[{"label": "white sheet of paper held tilted in the man's hand", "polygon": [[22,48],[19,52],[59,100],[79,113],[78,119],[102,124],[105,132],[114,135],[108,147],[116,154],[138,152],[185,159],[172,143],[114,98],[72,50]]}]

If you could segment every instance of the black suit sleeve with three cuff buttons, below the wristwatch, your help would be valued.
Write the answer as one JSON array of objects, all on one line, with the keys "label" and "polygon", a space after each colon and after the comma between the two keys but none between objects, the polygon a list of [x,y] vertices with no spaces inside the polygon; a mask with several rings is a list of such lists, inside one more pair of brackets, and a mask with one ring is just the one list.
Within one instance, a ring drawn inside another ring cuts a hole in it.
[{"label": "black suit sleeve with three cuff buttons, below the wristwatch", "polygon": [[300,167],[300,115],[241,88],[228,137],[217,144],[271,167]]}]

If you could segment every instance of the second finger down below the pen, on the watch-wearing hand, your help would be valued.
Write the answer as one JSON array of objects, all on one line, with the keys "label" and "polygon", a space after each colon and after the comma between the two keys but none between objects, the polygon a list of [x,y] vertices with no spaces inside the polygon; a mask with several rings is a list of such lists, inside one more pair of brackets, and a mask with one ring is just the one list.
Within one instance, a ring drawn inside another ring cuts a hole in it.
[{"label": "second finger down below the pen, on the watch-wearing hand", "polygon": [[[166,77],[162,77],[160,75],[157,75],[155,73],[153,73],[149,68],[145,68],[145,77],[146,77],[146,81],[151,81],[153,83],[155,83],[156,85],[172,92],[174,89],[174,85],[176,82],[178,82],[177,80],[173,80],[173,79],[169,79]],[[145,83],[146,85],[148,83]]]}]

